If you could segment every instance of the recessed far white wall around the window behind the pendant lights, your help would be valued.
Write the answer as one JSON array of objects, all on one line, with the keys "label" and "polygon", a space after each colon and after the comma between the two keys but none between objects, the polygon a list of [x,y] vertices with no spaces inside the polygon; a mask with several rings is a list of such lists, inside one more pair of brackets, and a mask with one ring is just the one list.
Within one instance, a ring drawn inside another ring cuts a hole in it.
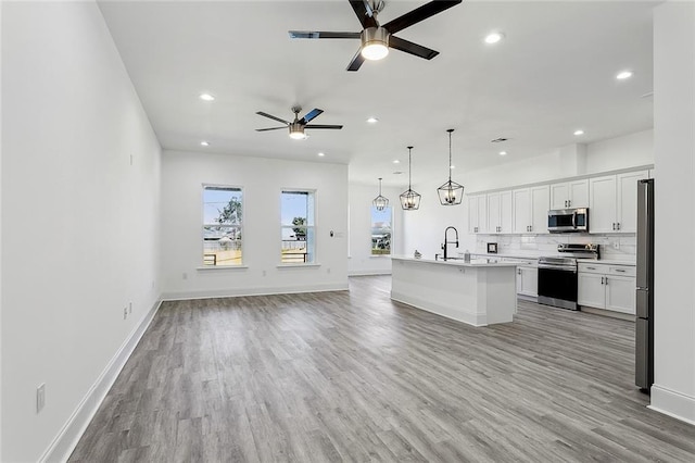
[{"label": "recessed far white wall around the window behind the pendant lights", "polygon": [[[381,195],[389,199],[393,211],[391,253],[403,253],[403,210],[399,195],[402,189],[382,187]],[[379,184],[350,184],[350,275],[382,275],[391,273],[391,258],[371,255],[371,201],[379,195]]]}]

